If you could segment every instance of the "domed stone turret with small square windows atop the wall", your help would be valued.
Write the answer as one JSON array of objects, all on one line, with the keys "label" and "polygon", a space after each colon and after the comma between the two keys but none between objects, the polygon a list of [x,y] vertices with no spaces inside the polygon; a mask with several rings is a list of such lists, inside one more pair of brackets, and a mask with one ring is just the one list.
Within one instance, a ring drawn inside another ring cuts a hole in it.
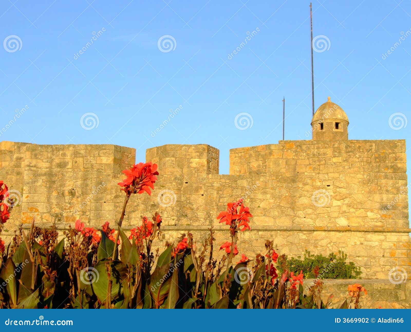
[{"label": "domed stone turret with small square windows atop the wall", "polygon": [[337,104],[323,103],[311,120],[313,140],[348,140],[348,117]]}]

